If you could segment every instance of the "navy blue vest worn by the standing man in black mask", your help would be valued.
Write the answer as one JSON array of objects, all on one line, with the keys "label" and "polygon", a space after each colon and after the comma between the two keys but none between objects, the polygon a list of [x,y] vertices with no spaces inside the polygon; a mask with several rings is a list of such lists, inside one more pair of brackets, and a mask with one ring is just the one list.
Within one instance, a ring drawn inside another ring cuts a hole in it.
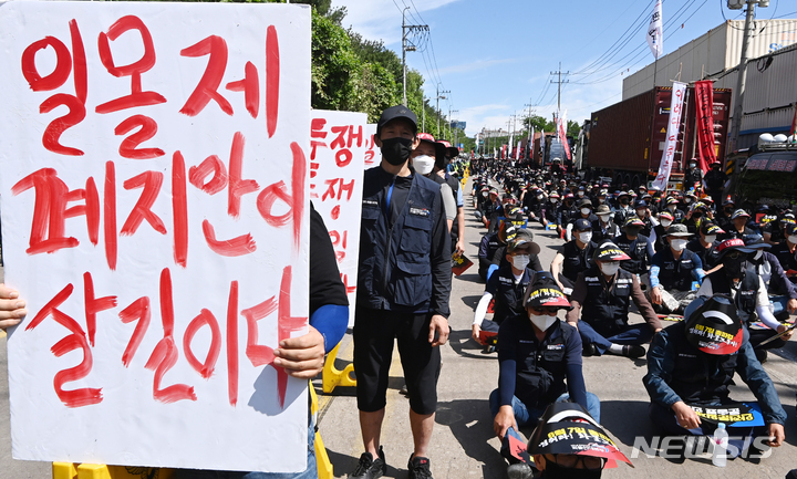
[{"label": "navy blue vest worn by the standing man in black mask", "polygon": [[398,217],[390,226],[381,167],[363,176],[358,304],[427,312],[432,298],[432,230],[442,214],[439,185],[413,174]]}]

